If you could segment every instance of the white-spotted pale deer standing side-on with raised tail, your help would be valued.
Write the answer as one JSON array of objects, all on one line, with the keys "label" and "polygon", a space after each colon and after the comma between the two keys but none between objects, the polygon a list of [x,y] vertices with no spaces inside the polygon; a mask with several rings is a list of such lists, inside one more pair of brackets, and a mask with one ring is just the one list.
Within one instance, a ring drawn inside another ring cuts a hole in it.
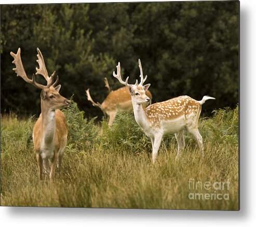
[{"label": "white-spotted pale deer standing side-on with raised tail", "polygon": [[143,86],[147,76],[145,78],[143,77],[140,59],[140,83],[136,80],[135,84],[129,84],[129,77],[126,78],[126,81],[123,81],[120,74],[120,62],[116,67],[117,74],[113,72],[113,76],[129,89],[135,120],[146,136],[151,138],[153,163],[156,161],[157,152],[163,136],[168,134],[175,134],[178,142],[176,159],[180,157],[185,146],[184,130],[187,130],[195,137],[202,154],[204,153],[203,139],[198,131],[198,119],[201,112],[201,105],[205,101],[210,99],[215,100],[215,98],[204,96],[201,101],[196,101],[189,96],[183,95],[152,104],[143,109],[142,105],[150,102],[150,98],[145,93],[149,89],[150,83]]}]

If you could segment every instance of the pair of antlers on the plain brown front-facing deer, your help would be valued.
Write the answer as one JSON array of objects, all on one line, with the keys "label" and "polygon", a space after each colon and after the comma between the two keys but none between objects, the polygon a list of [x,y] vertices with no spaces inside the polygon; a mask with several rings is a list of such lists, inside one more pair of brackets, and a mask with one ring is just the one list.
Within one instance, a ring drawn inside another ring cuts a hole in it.
[{"label": "pair of antlers on the plain brown front-facing deer", "polygon": [[[41,51],[39,50],[39,48],[37,48],[37,58],[38,60],[36,60],[39,64],[39,69],[36,68],[36,75],[37,74],[41,74],[47,81],[47,86],[43,85],[43,84],[39,84],[35,81],[35,75],[33,74],[32,79],[29,79],[28,76],[25,73],[22,61],[21,61],[21,57],[20,57],[20,48],[18,49],[17,54],[15,54],[14,52],[10,52],[10,55],[14,58],[14,61],[12,61],[12,63],[14,63],[16,65],[16,68],[13,68],[12,70],[14,70],[17,73],[17,76],[20,76],[23,80],[25,80],[28,83],[32,83],[35,87],[39,88],[39,89],[44,89],[44,88],[49,88],[53,82],[53,77],[55,76],[56,72],[53,72],[53,74],[51,74],[51,76],[48,76],[46,67],[45,67],[45,62],[44,62],[44,58],[43,55],[41,53]],[[57,76],[56,81],[52,84],[53,87],[56,86],[57,82],[59,80],[59,77]]]}]

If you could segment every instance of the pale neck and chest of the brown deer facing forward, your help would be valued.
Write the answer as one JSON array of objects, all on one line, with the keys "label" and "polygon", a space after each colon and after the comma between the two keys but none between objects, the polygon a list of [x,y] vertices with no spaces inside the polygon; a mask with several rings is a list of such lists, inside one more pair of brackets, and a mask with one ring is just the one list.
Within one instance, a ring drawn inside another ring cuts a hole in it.
[{"label": "pale neck and chest of the brown deer facing forward", "polygon": [[52,143],[55,136],[56,119],[55,110],[47,108],[44,103],[41,103],[42,109],[42,132],[46,144]]}]

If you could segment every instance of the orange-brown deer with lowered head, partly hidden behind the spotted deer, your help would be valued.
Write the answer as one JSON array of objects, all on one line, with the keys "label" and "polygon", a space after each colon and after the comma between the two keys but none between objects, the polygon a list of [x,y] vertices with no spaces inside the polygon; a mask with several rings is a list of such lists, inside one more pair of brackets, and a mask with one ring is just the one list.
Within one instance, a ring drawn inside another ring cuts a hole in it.
[{"label": "orange-brown deer with lowered head, partly hidden behind the spotted deer", "polygon": [[[128,88],[123,87],[115,91],[111,91],[109,82],[104,78],[105,87],[109,90],[109,94],[106,96],[105,100],[100,104],[99,102],[94,102],[90,95],[90,89],[86,90],[86,95],[88,101],[92,103],[93,106],[99,107],[104,115],[109,116],[109,126],[113,124],[116,117],[117,108],[120,111],[129,111],[132,109],[131,96],[129,94]],[[146,91],[146,95],[152,98],[152,94],[149,90]],[[146,108],[149,103],[143,104],[143,108]]]}]

